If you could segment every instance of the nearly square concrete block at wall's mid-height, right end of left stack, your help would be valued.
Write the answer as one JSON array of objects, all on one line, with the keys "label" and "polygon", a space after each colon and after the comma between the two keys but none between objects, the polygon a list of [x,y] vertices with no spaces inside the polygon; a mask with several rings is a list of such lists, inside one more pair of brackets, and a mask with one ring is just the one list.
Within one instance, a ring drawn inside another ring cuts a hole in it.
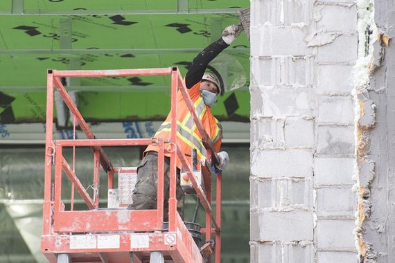
[{"label": "nearly square concrete block at wall's mid-height, right end of left stack", "polygon": [[314,120],[286,118],[285,123],[287,147],[308,147],[315,145]]}]

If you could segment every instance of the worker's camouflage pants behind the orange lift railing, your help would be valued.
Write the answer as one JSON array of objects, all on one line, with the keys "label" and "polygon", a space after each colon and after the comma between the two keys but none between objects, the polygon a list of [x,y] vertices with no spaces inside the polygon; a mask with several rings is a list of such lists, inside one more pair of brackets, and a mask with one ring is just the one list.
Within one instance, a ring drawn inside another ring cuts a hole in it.
[{"label": "worker's camouflage pants behind the orange lift railing", "polygon": [[[170,187],[170,167],[164,162],[164,221],[168,221],[168,199]],[[146,154],[137,168],[137,183],[133,190],[133,203],[128,207],[132,210],[148,210],[157,208],[158,156]],[[184,191],[179,185],[177,172],[177,211],[184,218]]]}]

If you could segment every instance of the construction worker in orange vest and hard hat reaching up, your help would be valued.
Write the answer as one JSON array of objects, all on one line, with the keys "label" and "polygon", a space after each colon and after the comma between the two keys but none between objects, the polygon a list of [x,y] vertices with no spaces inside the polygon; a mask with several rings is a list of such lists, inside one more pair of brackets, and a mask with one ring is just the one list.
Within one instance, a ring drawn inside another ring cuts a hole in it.
[{"label": "construction worker in orange vest and hard hat reaching up", "polygon": [[[216,152],[220,150],[222,141],[222,127],[218,120],[211,114],[211,107],[216,105],[217,97],[222,95],[225,87],[220,84],[218,76],[207,72],[209,62],[221,51],[231,44],[240,35],[243,29],[237,25],[231,25],[222,32],[222,37],[216,42],[204,48],[188,68],[185,76],[185,84],[195,110],[202,121],[202,125],[213,141]],[[170,138],[170,114],[162,123],[155,134],[155,138]],[[191,132],[193,131],[193,134]],[[191,149],[195,149],[198,160],[206,156],[206,149],[202,145],[202,136],[196,129],[195,123],[180,91],[177,93],[177,139],[186,159],[191,163]],[[192,146],[192,147],[191,147]],[[137,168],[137,183],[132,194],[133,203],[128,209],[156,209],[157,208],[157,163],[159,147],[155,144],[148,145],[144,152],[143,160]],[[170,154],[165,153],[164,160],[164,221],[168,221],[168,198],[169,198],[169,174]],[[218,167],[215,170],[223,170],[229,163],[227,152],[219,152]],[[179,174],[182,169],[181,162],[177,158],[177,211],[183,218],[184,215],[184,192],[179,183]]]}]

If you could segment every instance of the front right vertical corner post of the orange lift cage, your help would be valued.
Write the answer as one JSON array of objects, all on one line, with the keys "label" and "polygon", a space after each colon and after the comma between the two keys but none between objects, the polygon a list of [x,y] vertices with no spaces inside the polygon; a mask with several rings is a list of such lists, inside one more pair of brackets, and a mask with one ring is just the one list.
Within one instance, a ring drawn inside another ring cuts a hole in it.
[{"label": "front right vertical corner post of the orange lift cage", "polygon": [[[173,67],[171,71],[171,143],[173,148],[177,145],[177,67]],[[177,154],[176,150],[170,153],[170,198],[168,201],[168,230],[175,231],[175,213],[177,212],[177,199],[175,198],[176,191],[176,169],[177,169]]]}]

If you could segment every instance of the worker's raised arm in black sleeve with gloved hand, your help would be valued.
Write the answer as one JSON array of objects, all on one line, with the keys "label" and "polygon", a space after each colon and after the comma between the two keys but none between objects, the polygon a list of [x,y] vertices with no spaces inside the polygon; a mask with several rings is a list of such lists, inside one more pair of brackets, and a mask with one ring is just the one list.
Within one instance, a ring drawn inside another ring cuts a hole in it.
[{"label": "worker's raised arm in black sleeve with gloved hand", "polygon": [[185,76],[185,84],[188,89],[191,89],[193,85],[200,82],[206,71],[207,65],[216,58],[225,48],[234,42],[234,39],[240,35],[243,28],[237,25],[231,25],[225,28],[222,32],[222,37],[216,42],[211,43],[207,48],[204,48],[194,59],[191,66],[188,69],[188,73]]}]

